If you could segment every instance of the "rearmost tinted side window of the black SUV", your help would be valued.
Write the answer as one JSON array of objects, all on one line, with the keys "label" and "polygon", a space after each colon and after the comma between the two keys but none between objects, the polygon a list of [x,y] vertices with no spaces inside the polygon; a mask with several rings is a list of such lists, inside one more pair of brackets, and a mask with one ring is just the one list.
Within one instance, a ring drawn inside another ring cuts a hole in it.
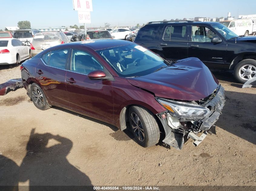
[{"label": "rearmost tinted side window of the black SUV", "polygon": [[136,40],[154,40],[160,26],[146,25],[137,34]]}]

